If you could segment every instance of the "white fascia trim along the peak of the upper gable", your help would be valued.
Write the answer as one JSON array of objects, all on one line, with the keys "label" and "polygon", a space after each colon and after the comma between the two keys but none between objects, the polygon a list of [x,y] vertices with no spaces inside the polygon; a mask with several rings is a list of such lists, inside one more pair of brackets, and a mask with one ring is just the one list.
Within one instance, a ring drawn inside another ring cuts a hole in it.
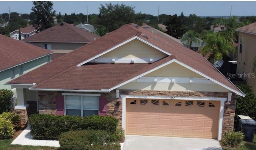
[{"label": "white fascia trim along the peak of the upper gable", "polygon": [[133,38],[130,38],[130,39],[128,39],[127,41],[124,41],[123,43],[120,43],[120,44],[118,44],[118,45],[116,45],[116,46],[114,46],[114,47],[108,49],[107,51],[104,51],[104,52],[100,53],[99,55],[96,55],[96,56],[94,56],[94,57],[92,57],[92,58],[90,58],[90,59],[87,59],[86,61],[83,61],[82,63],[79,63],[77,66],[84,65],[85,63],[88,63],[89,61],[92,61],[93,59],[96,59],[96,58],[98,58],[98,57],[104,55],[105,53],[108,53],[108,52],[110,52],[110,51],[112,51],[112,50],[114,50],[114,49],[116,49],[116,48],[118,48],[118,47],[120,47],[120,46],[122,46],[122,45],[124,45],[124,44],[126,44],[126,43],[128,43],[128,42],[130,42],[130,41],[132,41],[132,40],[134,40],[134,39],[138,39],[138,40],[140,40],[140,41],[142,41],[142,42],[144,42],[144,43],[146,43],[146,44],[148,44],[148,45],[154,47],[155,49],[158,49],[159,51],[161,51],[161,52],[163,52],[163,53],[165,53],[165,54],[167,54],[167,55],[169,55],[169,56],[171,55],[170,53],[168,53],[168,52],[166,52],[166,51],[164,51],[164,50],[162,50],[162,49],[156,47],[155,45],[152,45],[152,44],[148,43],[147,41],[145,41],[145,40],[143,40],[143,39],[141,39],[141,38],[138,38],[137,36],[134,36]]}]

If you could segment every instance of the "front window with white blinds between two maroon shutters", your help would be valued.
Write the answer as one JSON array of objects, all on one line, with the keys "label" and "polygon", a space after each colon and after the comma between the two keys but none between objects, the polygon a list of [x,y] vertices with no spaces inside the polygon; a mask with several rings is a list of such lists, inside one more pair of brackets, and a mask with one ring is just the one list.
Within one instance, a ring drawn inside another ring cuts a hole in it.
[{"label": "front window with white blinds between two maroon shutters", "polygon": [[71,116],[98,115],[99,98],[96,96],[66,95],[66,114]]}]

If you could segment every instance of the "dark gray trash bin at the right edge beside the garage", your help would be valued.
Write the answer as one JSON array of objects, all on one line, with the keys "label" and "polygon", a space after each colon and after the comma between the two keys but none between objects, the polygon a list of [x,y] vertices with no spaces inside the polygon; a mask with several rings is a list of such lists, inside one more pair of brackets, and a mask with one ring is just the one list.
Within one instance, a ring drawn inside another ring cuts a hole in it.
[{"label": "dark gray trash bin at the right edge beside the garage", "polygon": [[256,121],[253,119],[239,119],[242,124],[242,132],[244,133],[244,140],[247,142],[253,142],[254,132],[256,130]]}]

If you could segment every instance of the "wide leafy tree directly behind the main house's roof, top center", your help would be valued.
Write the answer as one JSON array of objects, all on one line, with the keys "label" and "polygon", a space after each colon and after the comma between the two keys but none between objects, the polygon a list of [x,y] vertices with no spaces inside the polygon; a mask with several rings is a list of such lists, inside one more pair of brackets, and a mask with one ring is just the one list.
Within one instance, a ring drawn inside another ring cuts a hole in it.
[{"label": "wide leafy tree directly behind the main house's roof, top center", "polygon": [[98,15],[98,20],[95,22],[95,27],[98,28],[102,34],[112,32],[124,24],[134,22],[136,15],[134,11],[135,6],[112,3],[105,5],[106,6],[100,4],[100,14]]}]

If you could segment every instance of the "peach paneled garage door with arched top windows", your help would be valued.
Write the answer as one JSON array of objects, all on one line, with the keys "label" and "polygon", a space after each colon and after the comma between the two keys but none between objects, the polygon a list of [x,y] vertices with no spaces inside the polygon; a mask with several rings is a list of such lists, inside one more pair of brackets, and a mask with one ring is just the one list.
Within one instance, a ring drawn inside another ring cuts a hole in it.
[{"label": "peach paneled garage door with arched top windows", "polygon": [[126,134],[217,138],[220,101],[126,99]]}]

